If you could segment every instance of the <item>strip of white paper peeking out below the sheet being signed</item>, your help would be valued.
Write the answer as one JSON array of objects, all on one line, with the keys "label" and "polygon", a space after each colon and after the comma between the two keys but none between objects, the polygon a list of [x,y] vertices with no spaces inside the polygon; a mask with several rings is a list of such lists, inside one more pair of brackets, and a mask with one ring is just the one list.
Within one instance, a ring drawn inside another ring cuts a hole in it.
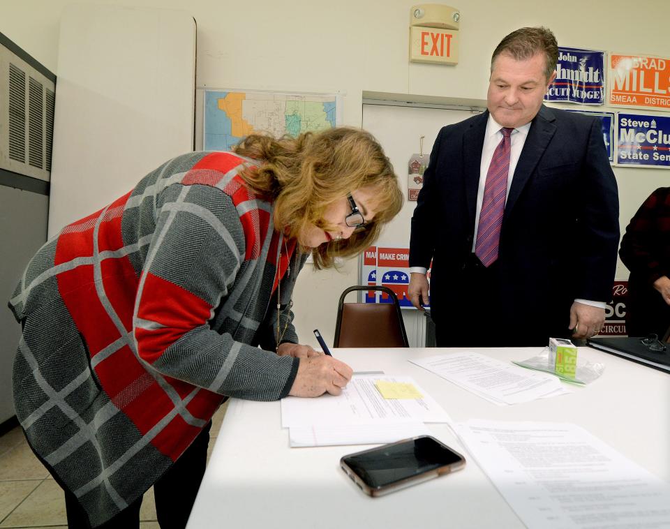
[{"label": "strip of white paper peeking out below the sheet being signed", "polygon": [[343,426],[291,426],[288,438],[292,447],[326,447],[331,445],[378,445],[401,439],[430,435],[422,422],[383,424],[349,424]]}]

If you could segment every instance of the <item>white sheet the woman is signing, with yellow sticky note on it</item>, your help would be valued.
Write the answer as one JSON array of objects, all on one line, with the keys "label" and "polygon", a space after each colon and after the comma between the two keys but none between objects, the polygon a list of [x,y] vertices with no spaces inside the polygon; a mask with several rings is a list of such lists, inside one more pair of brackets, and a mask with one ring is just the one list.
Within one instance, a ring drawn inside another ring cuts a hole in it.
[{"label": "white sheet the woman is signing, with yellow sticky note on it", "polygon": [[[521,368],[519,368],[521,369]],[[423,398],[387,399],[375,386],[378,380],[414,385]],[[281,426],[381,424],[383,422],[452,422],[434,398],[411,377],[354,375],[340,395],[281,399]]]}]

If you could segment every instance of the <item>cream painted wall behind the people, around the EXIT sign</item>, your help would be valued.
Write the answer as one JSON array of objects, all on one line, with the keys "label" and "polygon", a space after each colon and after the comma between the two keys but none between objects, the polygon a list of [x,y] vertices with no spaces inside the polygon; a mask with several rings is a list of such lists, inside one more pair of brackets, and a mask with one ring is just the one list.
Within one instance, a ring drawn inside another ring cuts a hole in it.
[{"label": "cream painted wall behind the people, around the EXIT sign", "polygon": [[[412,1],[88,3],[188,10],[198,22],[198,87],[344,91],[343,119],[350,125],[361,124],[363,91],[484,99],[493,48],[509,31],[526,25],[550,27],[561,45],[670,57],[670,3],[664,0],[449,2],[461,10],[460,63],[455,67],[408,63]],[[68,3],[3,0],[0,31],[58,73],[59,16]],[[396,169],[404,176],[404,167]],[[615,172],[625,228],[650,191],[668,185],[670,171],[616,167]],[[625,278],[627,273],[620,266],[617,275]],[[355,262],[339,272],[301,275],[295,306],[298,331],[306,343],[314,343],[311,329],[317,326],[332,341],[338,295],[356,282]]]}]

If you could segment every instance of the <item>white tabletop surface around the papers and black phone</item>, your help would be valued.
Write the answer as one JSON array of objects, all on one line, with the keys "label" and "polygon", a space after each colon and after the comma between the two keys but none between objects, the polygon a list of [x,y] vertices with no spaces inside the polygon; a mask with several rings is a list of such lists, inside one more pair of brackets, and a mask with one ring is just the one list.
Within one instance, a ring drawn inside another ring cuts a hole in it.
[{"label": "white tabletop surface around the papers and black phone", "polygon": [[[409,375],[454,422],[470,418],[571,422],[670,482],[670,375],[580,348],[606,365],[601,378],[572,394],[498,406],[408,362],[453,349],[335,349],[355,371]],[[459,349],[463,351],[463,349]],[[526,359],[539,348],[466,349],[502,360]],[[433,435],[466,455],[466,468],[380,498],[364,495],[339,468],[344,454],[365,446],[290,448],[278,402],[233,399],[216,439],[188,529],[200,528],[523,528],[445,424]],[[369,446],[367,446],[369,447]]]}]

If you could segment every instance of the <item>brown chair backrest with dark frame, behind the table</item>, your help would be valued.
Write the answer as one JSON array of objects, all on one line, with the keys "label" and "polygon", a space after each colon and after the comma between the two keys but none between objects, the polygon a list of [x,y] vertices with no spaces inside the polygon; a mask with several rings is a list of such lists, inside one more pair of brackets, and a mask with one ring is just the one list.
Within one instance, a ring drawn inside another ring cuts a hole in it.
[{"label": "brown chair backrest with dark frame, behind the table", "polygon": [[[384,292],[391,303],[345,303],[350,292]],[[395,292],[382,286],[355,285],[340,296],[334,347],[409,347],[400,303]]]}]

